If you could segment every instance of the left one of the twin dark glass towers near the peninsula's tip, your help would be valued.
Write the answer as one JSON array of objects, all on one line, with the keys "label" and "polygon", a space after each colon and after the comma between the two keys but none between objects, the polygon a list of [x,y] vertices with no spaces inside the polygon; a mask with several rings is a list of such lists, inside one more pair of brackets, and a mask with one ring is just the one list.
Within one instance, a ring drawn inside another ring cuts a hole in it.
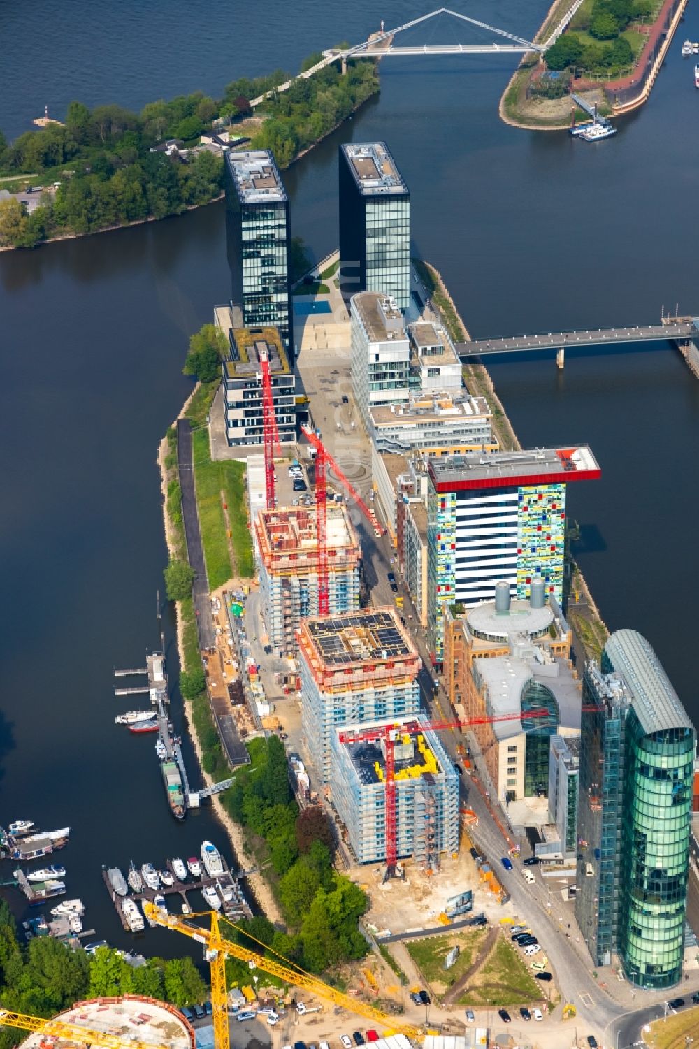
[{"label": "left one of the twin dark glass towers near the peninsula's tip", "polygon": [[226,154],[228,263],[236,327],[277,327],[293,361],[289,198],[267,149]]}]

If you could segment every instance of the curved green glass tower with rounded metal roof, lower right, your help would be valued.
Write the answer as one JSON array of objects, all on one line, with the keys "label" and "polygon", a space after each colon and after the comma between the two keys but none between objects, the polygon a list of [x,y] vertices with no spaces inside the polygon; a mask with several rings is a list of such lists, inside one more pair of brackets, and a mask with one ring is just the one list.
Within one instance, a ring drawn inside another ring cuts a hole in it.
[{"label": "curved green glass tower with rounded metal roof, lower right", "polygon": [[582,689],[575,916],[597,965],[682,975],[695,730],[648,641],[617,630]]}]

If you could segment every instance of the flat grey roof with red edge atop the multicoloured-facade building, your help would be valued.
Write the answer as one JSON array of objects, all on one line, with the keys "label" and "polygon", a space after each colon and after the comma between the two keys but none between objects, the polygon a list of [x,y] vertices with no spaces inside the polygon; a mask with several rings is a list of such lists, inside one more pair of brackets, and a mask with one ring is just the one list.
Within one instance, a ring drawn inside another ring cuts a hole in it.
[{"label": "flat grey roof with red edge atop the multicoloured-facade building", "polygon": [[429,474],[438,492],[520,485],[567,484],[600,476],[587,445],[575,448],[537,448],[521,452],[468,452],[430,461]]}]

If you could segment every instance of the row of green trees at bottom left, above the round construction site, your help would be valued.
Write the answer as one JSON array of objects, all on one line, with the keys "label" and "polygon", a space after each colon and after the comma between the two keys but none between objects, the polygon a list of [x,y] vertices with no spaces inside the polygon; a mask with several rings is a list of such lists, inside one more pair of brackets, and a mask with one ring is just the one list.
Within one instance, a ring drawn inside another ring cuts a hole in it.
[{"label": "row of green trees at bottom left, above the round construction site", "polygon": [[[207,986],[191,958],[151,958],[137,969],[110,947],[91,958],[50,937],[21,946],[12,912],[0,900],[0,1001],[7,1009],[51,1016],[88,997],[146,994],[176,1006],[202,1002]],[[24,1037],[2,1028],[0,1049]]]}]

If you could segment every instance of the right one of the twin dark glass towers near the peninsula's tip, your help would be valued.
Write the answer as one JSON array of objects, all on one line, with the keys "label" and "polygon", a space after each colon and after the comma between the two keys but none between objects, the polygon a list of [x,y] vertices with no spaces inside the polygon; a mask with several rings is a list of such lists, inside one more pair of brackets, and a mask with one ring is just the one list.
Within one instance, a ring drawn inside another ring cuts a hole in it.
[{"label": "right one of the twin dark glass towers near the peninsula's tip", "polygon": [[340,146],[340,285],[410,305],[410,194],[385,143]]}]

